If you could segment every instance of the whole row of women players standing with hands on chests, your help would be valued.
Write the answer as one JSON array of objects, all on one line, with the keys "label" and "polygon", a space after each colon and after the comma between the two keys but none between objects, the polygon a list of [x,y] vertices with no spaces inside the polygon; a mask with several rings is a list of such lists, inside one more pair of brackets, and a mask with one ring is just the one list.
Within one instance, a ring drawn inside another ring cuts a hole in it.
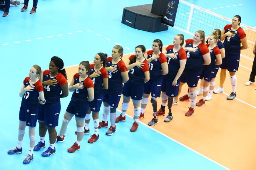
[{"label": "whole row of women players standing with hands on chests", "polygon": [[[234,16],[231,25],[226,25],[222,31],[213,30],[206,42],[205,32],[198,30],[193,39],[184,40],[182,34],[177,34],[173,44],[168,45],[164,50],[162,50],[163,43],[159,39],[153,41],[152,50],[149,51],[146,51],[143,45],[138,45],[135,47],[135,55],[131,55],[127,61],[122,60],[123,48],[115,45],[111,57],[100,52],[95,55],[93,64],[88,61],[81,62],[70,86],[67,84],[63,60],[59,57],[51,58],[49,70],[42,71],[38,65],[32,66],[29,77],[25,78],[19,92],[22,102],[19,111],[18,144],[8,151],[8,154],[22,152],[22,139],[26,126],[29,127],[30,149],[23,161],[24,164],[33,160],[33,151],[39,151],[45,147],[47,130],[50,146],[42,156],[55,154],[54,144],[56,140],[64,142],[68,123],[74,115],[77,123],[75,132],[77,141],[68,149],[68,152],[78,151],[83,134],[90,133],[91,112],[95,128],[88,142],[95,143],[99,140],[98,129],[109,126],[109,116],[110,128],[106,134],[113,135],[117,132],[115,123],[125,121],[125,113],[131,99],[134,105],[134,123],[130,131],[136,132],[139,118],[144,117],[150,94],[153,118],[148,125],[156,125],[158,116],[165,115],[166,103],[169,112],[164,122],[170,122],[173,119],[171,107],[177,104],[181,87],[185,83],[189,86],[188,94],[180,97],[179,100],[190,100],[190,107],[185,115],[191,116],[194,114],[195,106],[203,106],[205,100],[212,98],[214,79],[219,67],[223,71],[228,69],[230,72],[232,92],[227,99],[234,99],[237,85],[235,72],[239,66],[240,51],[247,48],[246,34],[239,27],[240,23],[241,17]],[[224,43],[221,42],[223,40]],[[201,81],[200,89],[196,91],[199,78],[204,81]],[[67,97],[68,91],[72,92],[72,97],[57,136],[55,127],[58,126],[60,98]],[[217,89],[215,93],[218,92],[221,91]],[[120,116],[116,117],[116,108],[121,94],[123,95],[122,111]],[[196,103],[196,95],[200,94],[203,94],[202,99]],[[156,98],[160,96],[162,103],[157,111]],[[102,102],[103,119],[100,122],[99,111]],[[35,145],[37,121],[40,141]]]}]

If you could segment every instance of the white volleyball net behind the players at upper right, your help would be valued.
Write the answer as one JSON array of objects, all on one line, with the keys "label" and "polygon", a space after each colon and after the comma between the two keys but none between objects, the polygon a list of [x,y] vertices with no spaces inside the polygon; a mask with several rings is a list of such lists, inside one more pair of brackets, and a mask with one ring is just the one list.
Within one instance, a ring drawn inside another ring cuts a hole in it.
[{"label": "white volleyball net behind the players at upper right", "polygon": [[[216,28],[222,30],[225,25],[231,24],[232,19],[216,14],[199,6],[179,0],[179,6],[175,18],[175,29],[193,35],[197,30],[205,31],[208,37]],[[250,60],[254,59],[252,53],[256,40],[256,28],[240,24],[244,29],[247,37],[248,48],[241,51],[241,56]]]}]

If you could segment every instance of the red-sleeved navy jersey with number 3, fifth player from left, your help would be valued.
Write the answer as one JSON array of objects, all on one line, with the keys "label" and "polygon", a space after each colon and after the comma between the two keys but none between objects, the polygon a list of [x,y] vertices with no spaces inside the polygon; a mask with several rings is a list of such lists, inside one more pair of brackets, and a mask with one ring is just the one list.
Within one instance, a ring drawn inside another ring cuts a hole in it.
[{"label": "red-sleeved navy jersey with number 3, fifth player from left", "polygon": [[122,93],[122,76],[121,73],[124,71],[127,71],[127,67],[125,66],[125,63],[120,59],[117,63],[112,63],[113,58],[109,57],[107,58],[107,66],[110,67],[114,65],[113,67],[117,68],[117,72],[111,73],[108,71],[109,74],[109,88],[107,89],[107,93],[111,95],[120,95]]}]

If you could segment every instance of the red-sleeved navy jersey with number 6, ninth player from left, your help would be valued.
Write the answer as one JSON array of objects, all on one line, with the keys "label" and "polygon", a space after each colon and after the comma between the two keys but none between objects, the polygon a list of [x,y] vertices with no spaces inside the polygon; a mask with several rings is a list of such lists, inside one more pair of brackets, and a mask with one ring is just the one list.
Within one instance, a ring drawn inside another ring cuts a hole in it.
[{"label": "red-sleeved navy jersey with number 6, ninth player from left", "polygon": [[209,52],[209,49],[206,47],[205,44],[200,43],[197,47],[193,47],[193,39],[188,39],[185,41],[185,47],[192,47],[197,49],[198,51],[190,52],[186,51],[187,54],[187,61],[186,61],[186,70],[202,70],[203,69],[203,55]]}]

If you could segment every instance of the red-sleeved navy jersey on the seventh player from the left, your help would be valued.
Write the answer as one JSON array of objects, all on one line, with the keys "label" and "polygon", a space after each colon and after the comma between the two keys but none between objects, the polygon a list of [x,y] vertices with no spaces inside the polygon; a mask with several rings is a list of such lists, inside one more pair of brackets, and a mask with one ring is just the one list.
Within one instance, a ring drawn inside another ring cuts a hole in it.
[{"label": "red-sleeved navy jersey on the seventh player from the left", "polygon": [[[147,51],[147,58],[151,58],[154,51],[149,50]],[[153,60],[149,63],[149,73],[150,73],[150,80],[156,80],[162,76],[162,63],[167,63],[166,56],[161,52],[158,59]]]}]

